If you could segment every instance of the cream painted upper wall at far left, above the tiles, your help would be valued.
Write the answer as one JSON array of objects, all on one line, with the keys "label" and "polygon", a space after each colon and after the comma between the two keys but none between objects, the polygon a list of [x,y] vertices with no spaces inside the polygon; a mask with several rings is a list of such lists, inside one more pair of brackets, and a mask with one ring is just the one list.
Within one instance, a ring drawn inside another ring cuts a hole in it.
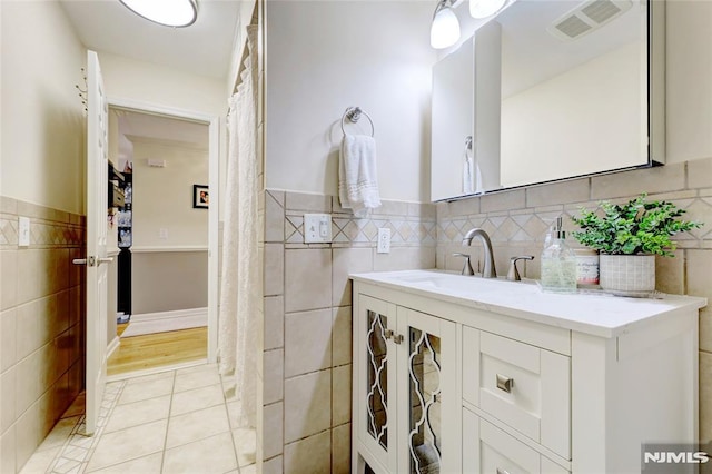
[{"label": "cream painted upper wall at far left, above the tiles", "polygon": [[1,1],[0,194],[83,214],[85,48],[55,1]]}]

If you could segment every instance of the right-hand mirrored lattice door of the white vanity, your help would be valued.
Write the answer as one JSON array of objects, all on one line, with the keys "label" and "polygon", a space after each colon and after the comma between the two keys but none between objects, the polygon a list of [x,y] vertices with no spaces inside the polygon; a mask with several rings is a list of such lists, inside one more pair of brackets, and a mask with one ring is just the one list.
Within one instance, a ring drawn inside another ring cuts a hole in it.
[{"label": "right-hand mirrored lattice door of the white vanity", "polygon": [[461,472],[457,326],[397,308],[398,472]]}]

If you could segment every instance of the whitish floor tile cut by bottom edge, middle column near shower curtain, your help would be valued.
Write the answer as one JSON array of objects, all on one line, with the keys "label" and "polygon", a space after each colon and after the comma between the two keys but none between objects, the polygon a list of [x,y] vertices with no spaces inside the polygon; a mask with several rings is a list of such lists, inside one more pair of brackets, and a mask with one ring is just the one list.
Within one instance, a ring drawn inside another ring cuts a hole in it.
[{"label": "whitish floor tile cut by bottom edge, middle column near shower curtain", "polygon": [[168,450],[164,458],[165,474],[224,474],[236,467],[230,433]]}]

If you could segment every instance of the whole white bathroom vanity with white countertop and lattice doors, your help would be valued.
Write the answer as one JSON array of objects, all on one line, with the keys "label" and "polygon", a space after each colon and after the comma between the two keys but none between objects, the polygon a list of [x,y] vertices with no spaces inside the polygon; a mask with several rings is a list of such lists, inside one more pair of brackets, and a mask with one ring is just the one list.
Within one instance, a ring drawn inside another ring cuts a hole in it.
[{"label": "whole white bathroom vanity with white countertop and lattice doors", "polygon": [[643,444],[696,442],[704,298],[352,278],[355,473],[640,473]]}]

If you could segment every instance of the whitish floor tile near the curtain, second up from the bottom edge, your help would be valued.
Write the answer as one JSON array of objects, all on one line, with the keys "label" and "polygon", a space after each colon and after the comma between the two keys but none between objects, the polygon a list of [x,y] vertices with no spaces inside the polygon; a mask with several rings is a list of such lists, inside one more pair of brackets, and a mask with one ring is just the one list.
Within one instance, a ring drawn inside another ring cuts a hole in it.
[{"label": "whitish floor tile near the curtain, second up from the bottom edge", "polygon": [[229,432],[229,429],[225,405],[171,416],[168,422],[166,447],[171,448],[192,443],[219,433]]}]

